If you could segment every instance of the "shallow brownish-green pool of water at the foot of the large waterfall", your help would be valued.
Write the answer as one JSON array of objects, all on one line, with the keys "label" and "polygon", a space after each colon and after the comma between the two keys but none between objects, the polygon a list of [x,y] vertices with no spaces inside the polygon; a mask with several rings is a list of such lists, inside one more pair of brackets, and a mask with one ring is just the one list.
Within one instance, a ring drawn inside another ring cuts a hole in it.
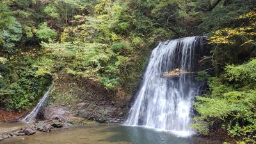
[{"label": "shallow brownish-green pool of water at the foot of the large waterfall", "polygon": [[123,125],[72,126],[49,133],[37,132],[32,136],[17,136],[0,144],[218,144],[196,136],[182,138],[170,132],[145,127]]}]

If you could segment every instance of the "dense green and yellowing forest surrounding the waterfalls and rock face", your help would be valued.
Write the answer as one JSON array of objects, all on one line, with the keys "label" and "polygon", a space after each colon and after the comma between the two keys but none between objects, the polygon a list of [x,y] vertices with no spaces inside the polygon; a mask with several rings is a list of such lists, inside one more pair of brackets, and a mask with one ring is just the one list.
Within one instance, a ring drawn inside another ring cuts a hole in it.
[{"label": "dense green and yellowing forest surrounding the waterfalls and rock face", "polygon": [[68,74],[112,93],[133,94],[150,51],[163,40],[208,36],[193,127],[256,140],[255,0],[3,0],[0,107],[31,108]]}]

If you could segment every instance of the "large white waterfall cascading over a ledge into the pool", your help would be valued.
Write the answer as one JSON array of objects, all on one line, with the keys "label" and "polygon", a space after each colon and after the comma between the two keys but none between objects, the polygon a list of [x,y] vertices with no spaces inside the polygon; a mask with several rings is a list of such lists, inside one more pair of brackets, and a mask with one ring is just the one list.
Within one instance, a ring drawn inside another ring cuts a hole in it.
[{"label": "large white waterfall cascading over a ledge into the pool", "polygon": [[164,77],[164,72],[179,68],[192,72],[198,36],[159,44],[150,56],[143,84],[129,111],[125,125],[168,130],[179,136],[193,134],[191,104],[198,86],[192,74]]}]

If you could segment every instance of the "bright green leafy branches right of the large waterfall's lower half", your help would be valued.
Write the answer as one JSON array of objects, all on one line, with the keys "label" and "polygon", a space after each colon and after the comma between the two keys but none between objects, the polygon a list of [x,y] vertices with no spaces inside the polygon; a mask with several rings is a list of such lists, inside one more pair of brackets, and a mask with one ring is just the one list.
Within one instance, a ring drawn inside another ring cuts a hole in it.
[{"label": "bright green leafy branches right of the large waterfall's lower half", "polygon": [[[228,65],[221,77],[210,79],[211,94],[196,97],[195,109],[200,113],[196,119],[212,124],[219,121],[223,124],[222,129],[230,136],[244,138],[248,143],[255,141],[256,79],[253,78],[254,76],[255,59],[243,65]],[[201,123],[194,125],[198,131],[205,127],[204,123]]]}]

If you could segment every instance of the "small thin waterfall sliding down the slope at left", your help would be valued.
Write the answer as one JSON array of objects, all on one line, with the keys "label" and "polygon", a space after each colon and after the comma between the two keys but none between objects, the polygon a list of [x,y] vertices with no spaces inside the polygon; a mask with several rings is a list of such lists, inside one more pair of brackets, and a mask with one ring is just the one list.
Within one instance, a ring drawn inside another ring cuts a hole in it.
[{"label": "small thin waterfall sliding down the slope at left", "polygon": [[51,92],[52,88],[53,88],[53,84],[51,84],[51,86],[49,87],[47,92],[44,93],[44,96],[42,97],[42,99],[40,99],[40,101],[38,102],[36,107],[33,109],[33,111],[31,111],[28,115],[26,115],[24,118],[22,118],[20,120],[20,122],[30,123],[33,120],[35,120],[35,118],[36,118],[36,116],[38,116],[38,113],[40,112],[40,110],[45,106],[45,103],[47,102],[49,93]]}]

